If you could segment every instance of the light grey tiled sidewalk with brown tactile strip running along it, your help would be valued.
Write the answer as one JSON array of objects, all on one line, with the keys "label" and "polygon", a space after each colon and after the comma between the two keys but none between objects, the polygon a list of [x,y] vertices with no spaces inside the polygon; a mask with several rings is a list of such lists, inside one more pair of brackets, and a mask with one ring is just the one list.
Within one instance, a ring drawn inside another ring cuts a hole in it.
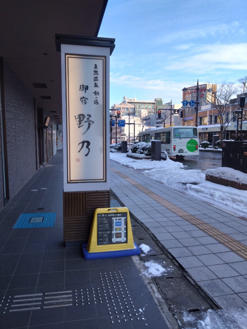
[{"label": "light grey tiled sidewalk with brown tactile strip running along it", "polygon": [[111,190],[221,308],[247,305],[247,221],[111,161]]}]

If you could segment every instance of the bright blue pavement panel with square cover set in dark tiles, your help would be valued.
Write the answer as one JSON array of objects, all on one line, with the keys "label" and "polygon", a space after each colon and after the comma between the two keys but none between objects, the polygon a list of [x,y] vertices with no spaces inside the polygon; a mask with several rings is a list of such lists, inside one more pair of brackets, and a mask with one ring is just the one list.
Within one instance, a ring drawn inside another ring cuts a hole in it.
[{"label": "bright blue pavement panel with square cover set in dark tiles", "polygon": [[21,214],[13,228],[52,227],[56,213]]}]

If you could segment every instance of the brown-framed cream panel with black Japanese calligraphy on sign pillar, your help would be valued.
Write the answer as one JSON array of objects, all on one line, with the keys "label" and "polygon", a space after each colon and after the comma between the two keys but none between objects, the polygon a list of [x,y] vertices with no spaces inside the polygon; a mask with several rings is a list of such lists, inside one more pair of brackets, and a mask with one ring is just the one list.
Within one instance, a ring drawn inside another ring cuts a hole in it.
[{"label": "brown-framed cream panel with black Japanese calligraphy on sign pillar", "polygon": [[105,182],[105,57],[66,55],[68,183]]}]

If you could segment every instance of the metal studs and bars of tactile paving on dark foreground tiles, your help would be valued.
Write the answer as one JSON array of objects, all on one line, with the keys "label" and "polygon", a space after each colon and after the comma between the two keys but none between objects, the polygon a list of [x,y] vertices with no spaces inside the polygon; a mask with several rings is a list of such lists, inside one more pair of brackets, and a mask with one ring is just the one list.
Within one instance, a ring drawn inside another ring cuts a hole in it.
[{"label": "metal studs and bars of tactile paving on dark foreground tiles", "polygon": [[[140,320],[140,322],[143,321],[142,328],[145,325],[151,325],[152,316],[150,314],[159,313],[154,301],[151,302],[149,300],[147,304],[148,296],[145,296],[147,295],[146,293],[136,288],[135,293],[130,294],[130,290],[133,290],[133,288],[128,287],[121,271],[106,272],[104,269],[101,269],[96,276],[96,282],[84,284],[83,289],[13,296],[6,295],[1,300],[0,312],[8,317],[16,312],[31,312],[33,310],[42,312],[44,309],[55,309],[58,307],[66,309],[70,307],[75,309],[81,308],[82,312],[83,310],[86,312],[88,307],[96,307],[98,318],[108,316],[106,318],[109,323],[114,324],[126,321],[135,323]],[[139,300],[136,298],[138,295]],[[147,316],[146,310],[148,308],[149,315]],[[164,320],[159,319],[159,321],[163,323]]]}]

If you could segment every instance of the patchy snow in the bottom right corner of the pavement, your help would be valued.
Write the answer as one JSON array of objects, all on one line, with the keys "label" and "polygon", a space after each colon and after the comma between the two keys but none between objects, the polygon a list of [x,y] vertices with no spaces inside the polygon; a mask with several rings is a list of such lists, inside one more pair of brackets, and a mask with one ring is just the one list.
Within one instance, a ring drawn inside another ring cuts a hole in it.
[{"label": "patchy snow in the bottom right corner of the pavement", "polygon": [[246,329],[247,307],[230,310],[208,310],[204,321],[197,322],[198,329]]}]

